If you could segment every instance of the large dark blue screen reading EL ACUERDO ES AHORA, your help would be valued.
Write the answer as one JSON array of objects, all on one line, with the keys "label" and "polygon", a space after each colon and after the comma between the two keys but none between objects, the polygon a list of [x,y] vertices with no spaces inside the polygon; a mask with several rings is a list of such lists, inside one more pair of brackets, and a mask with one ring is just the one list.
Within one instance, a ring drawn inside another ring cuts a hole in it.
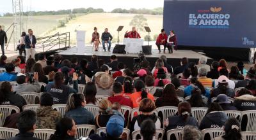
[{"label": "large dark blue screen reading EL ACUERDO ES AHORA", "polygon": [[256,1],[164,1],[164,29],[178,45],[251,48],[256,46]]}]

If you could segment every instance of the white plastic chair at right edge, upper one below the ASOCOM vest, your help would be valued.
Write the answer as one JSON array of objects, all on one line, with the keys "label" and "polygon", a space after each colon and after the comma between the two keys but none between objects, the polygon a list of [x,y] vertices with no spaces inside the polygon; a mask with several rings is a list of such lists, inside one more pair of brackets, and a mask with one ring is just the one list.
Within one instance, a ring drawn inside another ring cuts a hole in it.
[{"label": "white plastic chair at right edge, upper one below the ASOCOM vest", "polygon": [[245,131],[256,131],[256,110],[248,110],[248,111],[242,111],[242,115],[240,118],[240,123],[243,120],[243,116],[247,116],[247,125]]}]

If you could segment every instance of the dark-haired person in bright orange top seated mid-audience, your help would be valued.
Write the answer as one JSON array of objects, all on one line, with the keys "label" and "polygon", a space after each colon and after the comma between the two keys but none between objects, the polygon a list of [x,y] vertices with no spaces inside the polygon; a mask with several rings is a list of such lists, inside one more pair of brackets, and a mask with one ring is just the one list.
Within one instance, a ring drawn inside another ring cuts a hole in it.
[{"label": "dark-haired person in bright orange top seated mid-audience", "polygon": [[138,108],[142,99],[148,98],[154,101],[154,96],[149,94],[145,89],[145,83],[142,80],[134,81],[136,92],[131,95],[132,108]]}]

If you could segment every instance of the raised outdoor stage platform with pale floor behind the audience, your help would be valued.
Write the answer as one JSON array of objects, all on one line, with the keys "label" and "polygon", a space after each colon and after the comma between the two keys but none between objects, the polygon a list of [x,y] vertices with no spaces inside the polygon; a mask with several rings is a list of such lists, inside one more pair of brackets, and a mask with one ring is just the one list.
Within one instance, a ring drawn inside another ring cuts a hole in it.
[{"label": "raised outdoor stage platform with pale floor behind the audience", "polygon": [[[104,52],[102,47],[99,48],[98,52],[95,52],[92,48],[92,46],[84,46],[85,53],[84,54],[77,54],[77,47],[74,46],[68,50],[64,50],[62,52],[59,52],[60,55],[63,55],[63,57],[70,59],[71,57],[77,57],[79,60],[81,59],[87,59],[90,61],[92,55],[98,55],[99,59],[103,59],[107,62],[109,62],[109,57],[111,55],[116,55],[118,57],[119,62],[124,62],[127,67],[132,68],[133,67],[133,59],[138,57],[138,54],[118,54],[118,53],[112,53],[113,48],[111,48],[111,52]],[[146,55],[147,60],[150,62],[150,67],[154,67],[154,64],[156,60],[161,56],[166,55],[168,64],[172,64],[173,67],[180,65],[180,59],[182,57],[188,57],[189,62],[198,62],[198,59],[201,56],[205,56],[203,53],[194,52],[192,50],[177,50],[174,51],[174,53],[170,54],[168,53],[168,50],[166,50],[166,53],[163,53],[163,50],[161,50],[161,53],[157,49],[152,48],[152,55]],[[207,57],[207,64],[211,64],[212,59],[210,57]]]}]

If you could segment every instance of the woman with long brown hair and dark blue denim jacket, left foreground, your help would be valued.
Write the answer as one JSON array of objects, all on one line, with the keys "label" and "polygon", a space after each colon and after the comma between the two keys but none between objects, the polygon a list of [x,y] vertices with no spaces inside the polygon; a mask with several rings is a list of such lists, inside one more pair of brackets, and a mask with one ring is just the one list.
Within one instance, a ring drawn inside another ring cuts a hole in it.
[{"label": "woman with long brown hair and dark blue denim jacket, left foreground", "polygon": [[94,125],[94,116],[84,108],[85,104],[86,101],[83,94],[70,94],[65,116],[72,118],[77,125]]}]

